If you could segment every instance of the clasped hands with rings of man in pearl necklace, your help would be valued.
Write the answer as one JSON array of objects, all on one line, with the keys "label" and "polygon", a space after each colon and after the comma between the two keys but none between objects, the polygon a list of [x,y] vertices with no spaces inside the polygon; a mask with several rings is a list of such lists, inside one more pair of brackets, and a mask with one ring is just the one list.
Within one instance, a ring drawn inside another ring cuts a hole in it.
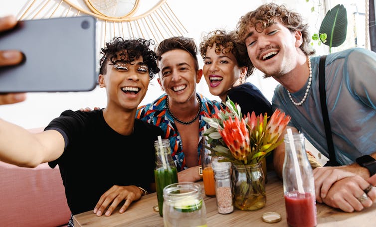
[{"label": "clasped hands with rings of man in pearl necklace", "polygon": [[371,207],[376,201],[375,188],[367,193],[364,201],[359,200],[366,193],[364,190],[369,185],[370,183],[361,176],[345,177],[333,184],[322,201],[345,212],[362,211],[364,208]]}]

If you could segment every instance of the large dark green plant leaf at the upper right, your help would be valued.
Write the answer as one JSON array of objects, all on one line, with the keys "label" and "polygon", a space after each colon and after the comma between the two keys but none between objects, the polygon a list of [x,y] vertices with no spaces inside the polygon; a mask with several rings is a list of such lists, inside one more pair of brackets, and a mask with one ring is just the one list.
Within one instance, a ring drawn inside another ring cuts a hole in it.
[{"label": "large dark green plant leaf at the upper right", "polygon": [[[323,43],[329,48],[340,46],[346,39],[347,33],[347,12],[342,4],[330,9],[321,22],[319,33],[326,33],[329,42]],[[321,37],[320,37],[321,38]]]}]

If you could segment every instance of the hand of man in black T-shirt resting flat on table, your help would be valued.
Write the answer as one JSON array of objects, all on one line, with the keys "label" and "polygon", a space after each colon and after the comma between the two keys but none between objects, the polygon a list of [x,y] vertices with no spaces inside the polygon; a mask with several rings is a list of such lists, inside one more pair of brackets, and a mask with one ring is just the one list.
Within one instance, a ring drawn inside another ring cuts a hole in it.
[{"label": "hand of man in black T-shirt resting flat on table", "polygon": [[[120,208],[119,213],[124,213],[133,201],[139,200],[142,196],[142,191],[134,185],[131,186],[112,186],[99,199],[94,208],[94,213],[97,216],[102,216],[108,207],[105,216],[110,216],[115,208],[125,200],[124,205]],[[111,206],[110,206],[111,204]]]}]

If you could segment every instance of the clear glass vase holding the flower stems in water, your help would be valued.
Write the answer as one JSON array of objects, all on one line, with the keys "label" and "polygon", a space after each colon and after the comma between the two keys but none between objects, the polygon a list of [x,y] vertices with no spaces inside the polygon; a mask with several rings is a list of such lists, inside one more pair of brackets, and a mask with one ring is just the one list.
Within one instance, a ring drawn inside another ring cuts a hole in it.
[{"label": "clear glass vase holding the flower stems in water", "polygon": [[243,211],[253,211],[265,206],[265,177],[261,163],[232,164],[231,178],[236,208]]}]

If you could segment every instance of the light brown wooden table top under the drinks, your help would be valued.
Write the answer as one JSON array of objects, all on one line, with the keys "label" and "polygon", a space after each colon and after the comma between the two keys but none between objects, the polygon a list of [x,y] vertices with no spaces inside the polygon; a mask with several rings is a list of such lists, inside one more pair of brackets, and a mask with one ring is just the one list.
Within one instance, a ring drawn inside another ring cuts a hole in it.
[{"label": "light brown wooden table top under the drinks", "polygon": [[[201,186],[203,185],[200,182]],[[202,190],[203,191],[203,190]],[[206,221],[208,227],[287,227],[285,202],[283,198],[283,184],[274,172],[268,173],[266,184],[266,205],[257,211],[241,211],[234,209],[231,214],[221,215],[217,212],[216,199],[204,195],[206,206]],[[110,217],[97,217],[93,211],[84,212],[73,216],[75,227],[163,227],[163,218],[158,212],[153,211],[157,205],[157,194],[143,196],[140,201],[134,202],[128,210],[120,214],[120,208]],[[282,220],[278,223],[265,223],[262,214],[265,212],[278,212]],[[304,215],[304,214],[302,214]],[[345,213],[338,209],[317,204],[318,227],[370,227],[376,226],[376,205],[362,212]]]}]

